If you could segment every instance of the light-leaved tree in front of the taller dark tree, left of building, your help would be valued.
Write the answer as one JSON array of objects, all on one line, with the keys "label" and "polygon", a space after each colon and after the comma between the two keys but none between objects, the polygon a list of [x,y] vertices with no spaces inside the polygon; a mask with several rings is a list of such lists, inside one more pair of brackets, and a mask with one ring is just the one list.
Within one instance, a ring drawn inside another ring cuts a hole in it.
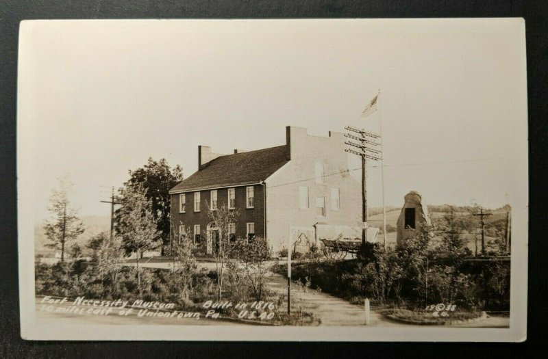
[{"label": "light-leaved tree in front of the taller dark tree, left of building", "polygon": [[142,184],[125,186],[121,189],[122,208],[119,210],[119,225],[116,230],[122,237],[126,252],[134,252],[137,262],[137,284],[141,292],[139,260],[142,252],[157,248],[160,232],[154,220],[151,200]]}]

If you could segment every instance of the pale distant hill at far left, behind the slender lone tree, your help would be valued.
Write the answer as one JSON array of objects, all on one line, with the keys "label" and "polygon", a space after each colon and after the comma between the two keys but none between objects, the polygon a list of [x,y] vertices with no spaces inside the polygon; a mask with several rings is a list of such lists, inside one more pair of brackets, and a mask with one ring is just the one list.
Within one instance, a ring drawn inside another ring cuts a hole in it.
[{"label": "pale distant hill at far left, behind the slender lone tree", "polygon": [[[82,222],[84,223],[84,228],[86,231],[82,233],[75,241],[69,242],[69,248],[73,243],[78,243],[84,254],[87,253],[86,244],[88,241],[98,235],[100,232],[106,231],[110,232],[110,217],[108,216],[88,216],[82,217]],[[49,240],[46,237],[46,232],[44,230],[44,223],[36,224],[34,226],[34,252],[35,254],[42,254],[43,256],[49,257],[55,255],[55,250],[46,246]]]}]

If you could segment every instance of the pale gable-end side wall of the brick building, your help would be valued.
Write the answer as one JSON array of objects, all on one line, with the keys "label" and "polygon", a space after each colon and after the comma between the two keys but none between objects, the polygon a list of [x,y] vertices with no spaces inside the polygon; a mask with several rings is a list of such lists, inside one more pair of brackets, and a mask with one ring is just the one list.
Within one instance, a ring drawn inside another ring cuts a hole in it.
[{"label": "pale gable-end side wall of the brick building", "polygon": [[[361,224],[361,184],[348,172],[343,133],[329,137],[308,135],[290,127],[291,161],[266,179],[266,236],[273,250],[288,247],[289,224],[312,227]],[[315,183],[316,161],[324,165],[324,183]],[[309,208],[299,209],[299,187],[308,186]],[[332,209],[331,189],[338,188],[340,210]],[[316,215],[316,197],[325,198],[325,217]]]}]

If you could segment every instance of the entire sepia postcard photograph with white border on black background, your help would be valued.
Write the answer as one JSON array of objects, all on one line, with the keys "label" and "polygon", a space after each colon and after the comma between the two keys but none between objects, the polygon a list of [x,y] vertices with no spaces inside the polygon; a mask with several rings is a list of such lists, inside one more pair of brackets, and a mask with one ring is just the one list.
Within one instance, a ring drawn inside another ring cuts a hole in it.
[{"label": "entire sepia postcard photograph with white border on black background", "polygon": [[522,18],[20,34],[23,338],[525,341]]}]

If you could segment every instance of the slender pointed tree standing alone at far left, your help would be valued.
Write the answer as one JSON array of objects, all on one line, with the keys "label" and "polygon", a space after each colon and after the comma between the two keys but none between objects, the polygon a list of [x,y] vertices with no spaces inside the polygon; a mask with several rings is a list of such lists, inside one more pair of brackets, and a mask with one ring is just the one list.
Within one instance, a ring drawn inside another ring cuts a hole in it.
[{"label": "slender pointed tree standing alone at far left", "polygon": [[62,262],[64,262],[66,242],[84,233],[84,224],[78,216],[78,211],[71,207],[69,201],[67,192],[70,186],[66,180],[61,180],[59,187],[53,189],[48,207],[51,219],[44,226],[46,237],[50,241],[47,246],[61,250]]}]

